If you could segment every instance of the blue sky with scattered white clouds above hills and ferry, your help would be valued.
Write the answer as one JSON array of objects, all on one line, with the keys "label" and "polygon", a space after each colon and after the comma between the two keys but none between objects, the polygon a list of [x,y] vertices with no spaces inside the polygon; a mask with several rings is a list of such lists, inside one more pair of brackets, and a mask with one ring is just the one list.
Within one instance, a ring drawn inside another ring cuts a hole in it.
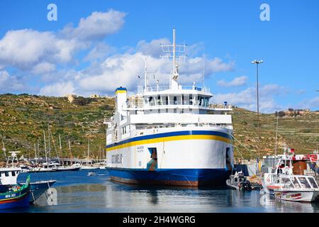
[{"label": "blue sky with scattered white clouds above hills and ferry", "polygon": [[252,61],[263,60],[260,111],[319,110],[318,0],[1,0],[0,12],[0,94],[136,92],[145,58],[149,84],[166,85],[172,63],[159,45],[175,28],[187,44],[179,82],[209,87],[212,103],[256,111]]}]

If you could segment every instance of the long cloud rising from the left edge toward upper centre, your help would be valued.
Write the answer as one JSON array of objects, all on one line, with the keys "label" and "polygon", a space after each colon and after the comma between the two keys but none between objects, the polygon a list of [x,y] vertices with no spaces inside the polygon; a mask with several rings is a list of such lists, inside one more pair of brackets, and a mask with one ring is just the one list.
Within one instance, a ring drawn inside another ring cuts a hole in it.
[{"label": "long cloud rising from the left edge toward upper centre", "polygon": [[76,28],[65,26],[58,32],[22,29],[8,31],[0,40],[0,68],[16,67],[35,74],[52,72],[56,65],[74,62],[77,51],[91,41],[118,31],[124,23],[120,11],[93,12],[81,18]]}]

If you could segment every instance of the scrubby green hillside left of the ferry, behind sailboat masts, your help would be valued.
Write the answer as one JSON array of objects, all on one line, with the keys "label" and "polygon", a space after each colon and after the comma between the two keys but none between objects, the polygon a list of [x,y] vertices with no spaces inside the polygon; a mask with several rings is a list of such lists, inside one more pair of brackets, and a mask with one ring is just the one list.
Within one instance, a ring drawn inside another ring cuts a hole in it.
[{"label": "scrubby green hillside left of the ferry, behind sailboat masts", "polygon": [[[92,157],[99,155],[105,146],[106,128],[103,119],[113,114],[113,99],[90,99],[79,97],[70,104],[65,97],[30,95],[0,96],[0,135],[4,136],[6,150],[19,150],[25,157],[34,157],[34,144],[40,145],[44,157],[44,138],[48,140],[50,127],[50,148],[52,157],[69,157],[68,140],[72,156],[85,157],[90,136]],[[60,151],[59,135],[62,152]],[[48,141],[47,148],[48,148]],[[0,157],[3,154],[0,155]]]}]

